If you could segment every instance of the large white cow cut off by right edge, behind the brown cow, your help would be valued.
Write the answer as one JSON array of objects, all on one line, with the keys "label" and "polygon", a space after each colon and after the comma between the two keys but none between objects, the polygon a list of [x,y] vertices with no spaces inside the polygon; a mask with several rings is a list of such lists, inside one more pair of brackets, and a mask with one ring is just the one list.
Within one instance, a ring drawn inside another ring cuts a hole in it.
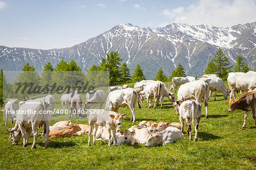
[{"label": "large white cow cut off by right edge, behind the brown cow", "polygon": [[248,73],[229,73],[228,84],[230,88],[230,100],[236,98],[236,91],[253,91],[256,88],[256,74]]}]

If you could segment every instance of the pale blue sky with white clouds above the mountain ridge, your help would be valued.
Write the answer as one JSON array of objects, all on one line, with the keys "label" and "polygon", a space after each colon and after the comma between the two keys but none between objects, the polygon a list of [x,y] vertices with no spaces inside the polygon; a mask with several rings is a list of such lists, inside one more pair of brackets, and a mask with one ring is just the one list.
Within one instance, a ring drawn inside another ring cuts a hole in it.
[{"label": "pale blue sky with white clouds above the mountain ridge", "polygon": [[232,27],[256,22],[256,0],[0,0],[0,45],[66,48],[120,23]]}]

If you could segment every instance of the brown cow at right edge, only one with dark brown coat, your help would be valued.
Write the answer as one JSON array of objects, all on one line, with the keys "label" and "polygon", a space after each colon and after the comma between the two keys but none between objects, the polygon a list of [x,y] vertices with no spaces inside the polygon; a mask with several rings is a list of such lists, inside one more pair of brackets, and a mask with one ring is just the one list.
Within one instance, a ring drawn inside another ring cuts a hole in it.
[{"label": "brown cow at right edge, only one with dark brown coat", "polygon": [[236,109],[240,109],[245,113],[245,121],[243,122],[243,128],[246,125],[247,112],[253,112],[253,118],[256,126],[256,116],[255,116],[255,108],[256,108],[256,89],[243,94],[237,99],[232,99],[229,101],[229,112],[236,111]]}]

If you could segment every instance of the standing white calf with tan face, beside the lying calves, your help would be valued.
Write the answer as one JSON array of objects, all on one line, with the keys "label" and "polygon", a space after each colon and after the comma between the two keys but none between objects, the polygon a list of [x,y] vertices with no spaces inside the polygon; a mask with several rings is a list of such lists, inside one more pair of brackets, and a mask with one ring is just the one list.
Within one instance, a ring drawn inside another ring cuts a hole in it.
[{"label": "standing white calf with tan face, beside the lying calves", "polygon": [[89,139],[88,139],[88,145],[90,146],[90,135],[92,135],[92,130],[94,126],[93,131],[93,145],[96,145],[96,134],[98,130],[98,126],[106,126],[108,130],[108,136],[109,136],[109,146],[111,146],[111,137],[113,137],[113,145],[117,143],[115,139],[115,133],[117,131],[117,126],[121,125],[122,118],[126,116],[126,113],[117,113],[113,111],[109,111],[109,120],[101,120],[99,114],[89,114]]}]

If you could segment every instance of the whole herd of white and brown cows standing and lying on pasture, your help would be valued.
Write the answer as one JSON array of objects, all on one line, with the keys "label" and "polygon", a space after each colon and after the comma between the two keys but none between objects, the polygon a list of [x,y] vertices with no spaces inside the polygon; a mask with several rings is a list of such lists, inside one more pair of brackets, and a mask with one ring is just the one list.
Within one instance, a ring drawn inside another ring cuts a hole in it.
[{"label": "whole herd of white and brown cows standing and lying on pasture", "polygon": [[[208,117],[208,100],[212,92],[214,92],[214,100],[216,100],[217,92],[223,94],[224,99],[228,98],[229,112],[236,109],[241,109],[245,113],[243,128],[246,125],[247,112],[253,112],[253,118],[256,125],[255,107],[256,107],[256,72],[249,71],[248,73],[229,73],[228,74],[228,88],[225,87],[224,82],[217,75],[203,75],[202,78],[196,79],[187,76],[172,78],[172,85],[170,89],[166,84],[154,80],[142,80],[134,84],[134,88],[127,85],[123,87],[109,87],[108,96],[105,92],[97,90],[88,92],[86,94],[85,107],[82,108],[82,97],[77,91],[72,91],[70,94],[61,96],[61,103],[63,109],[71,111],[69,118],[73,116],[73,111],[89,108],[101,109],[102,105],[106,102],[104,111],[109,113],[106,120],[99,117],[100,114],[89,114],[89,124],[74,124],[71,121],[60,121],[53,126],[49,126],[51,114],[7,114],[6,124],[8,117],[16,119],[14,128],[7,131],[10,133],[10,138],[13,140],[13,145],[18,145],[20,139],[23,138],[23,147],[28,145],[28,138],[33,137],[34,141],[32,148],[35,148],[36,138],[38,137],[38,128],[44,125],[42,136],[46,137],[46,147],[48,146],[49,138],[58,137],[71,137],[75,135],[89,134],[88,145],[91,145],[91,135],[93,133],[93,145],[96,140],[108,140],[108,145],[120,145],[121,143],[146,143],[146,147],[153,145],[167,145],[168,143],[175,142],[183,139],[184,135],[184,121],[187,124],[187,134],[189,139],[192,140],[192,128],[195,124],[195,141],[197,141],[197,132],[199,129],[199,122],[201,118],[201,101],[205,106],[205,118]],[[174,88],[176,92],[177,87],[177,100],[175,94],[170,90]],[[236,92],[246,92],[242,96],[236,98]],[[160,100],[160,107],[163,109],[163,98],[168,97],[172,102],[172,107],[176,109],[179,115],[179,123],[172,123],[160,121],[159,123],[153,121],[142,121],[138,125],[131,126],[130,129],[121,131],[122,118],[126,113],[118,113],[120,107],[128,107],[131,111],[130,122],[135,122],[135,105],[141,108],[141,102],[146,99],[148,108],[154,109],[158,106]],[[151,105],[154,99],[154,105]],[[9,100],[5,105],[6,111],[28,111],[33,109],[37,112],[52,111],[54,109],[55,99],[53,96],[20,101],[19,104],[16,100]],[[79,114],[81,118],[81,114]]]}]

